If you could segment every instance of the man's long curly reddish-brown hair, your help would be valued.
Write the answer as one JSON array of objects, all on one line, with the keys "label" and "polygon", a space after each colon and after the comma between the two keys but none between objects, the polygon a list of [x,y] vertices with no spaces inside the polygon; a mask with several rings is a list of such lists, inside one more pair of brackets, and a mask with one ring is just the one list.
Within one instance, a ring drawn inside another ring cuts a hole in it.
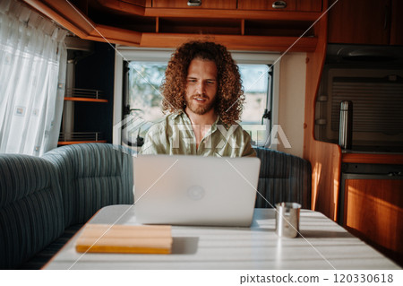
[{"label": "man's long curly reddish-brown hair", "polygon": [[191,41],[176,49],[161,85],[163,111],[184,110],[187,71],[194,58],[216,63],[218,90],[214,110],[222,123],[236,124],[244,104],[241,75],[227,48],[210,41]]}]

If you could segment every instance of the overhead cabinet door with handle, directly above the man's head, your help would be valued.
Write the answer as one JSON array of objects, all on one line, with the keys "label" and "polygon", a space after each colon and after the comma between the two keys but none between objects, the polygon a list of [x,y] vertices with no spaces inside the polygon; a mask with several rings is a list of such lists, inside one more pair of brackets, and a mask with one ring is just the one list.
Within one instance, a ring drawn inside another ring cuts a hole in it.
[{"label": "overhead cabinet door with handle, directly above the man's head", "polygon": [[153,0],[154,8],[236,9],[236,0]]}]

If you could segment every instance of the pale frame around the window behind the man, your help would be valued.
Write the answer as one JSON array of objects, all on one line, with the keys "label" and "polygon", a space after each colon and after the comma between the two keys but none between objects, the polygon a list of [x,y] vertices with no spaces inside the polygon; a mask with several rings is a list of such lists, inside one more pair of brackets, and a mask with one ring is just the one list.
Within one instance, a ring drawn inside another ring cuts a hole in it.
[{"label": "pale frame around the window behind the man", "polygon": [[[124,105],[124,61],[137,62],[168,62],[171,55],[175,52],[174,48],[135,48],[116,45],[115,53],[115,82],[114,82],[114,115],[113,115],[113,143],[122,144],[122,135],[120,126],[123,119]],[[281,54],[279,52],[263,51],[236,51],[230,50],[236,64],[258,64],[272,65],[272,93],[271,99],[267,100],[266,108],[271,101],[271,120],[270,125],[265,123],[266,132],[270,134],[272,126],[279,124],[279,66]],[[265,145],[266,147],[268,145]],[[277,149],[277,145],[270,147]]]}]

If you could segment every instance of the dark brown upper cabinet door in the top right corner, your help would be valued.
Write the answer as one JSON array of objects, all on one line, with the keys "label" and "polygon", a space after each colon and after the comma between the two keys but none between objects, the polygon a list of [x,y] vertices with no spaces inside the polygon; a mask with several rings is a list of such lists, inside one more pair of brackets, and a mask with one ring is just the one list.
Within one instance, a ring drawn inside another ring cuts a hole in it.
[{"label": "dark brown upper cabinet door in the top right corner", "polygon": [[389,9],[390,0],[339,0],[329,11],[328,41],[388,45]]}]

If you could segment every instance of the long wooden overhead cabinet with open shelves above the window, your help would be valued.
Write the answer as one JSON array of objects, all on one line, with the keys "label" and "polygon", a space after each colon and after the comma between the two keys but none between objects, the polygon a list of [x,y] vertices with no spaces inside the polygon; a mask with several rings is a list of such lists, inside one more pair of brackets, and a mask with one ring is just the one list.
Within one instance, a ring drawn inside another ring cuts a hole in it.
[{"label": "long wooden overhead cabinet with open shelves above the window", "polygon": [[23,1],[81,39],[176,48],[185,40],[207,37],[229,49],[279,52],[313,52],[320,25],[305,30],[327,5],[322,0],[286,0],[289,10],[282,11],[270,10],[271,0],[201,0],[200,6],[188,5],[196,0]]}]

